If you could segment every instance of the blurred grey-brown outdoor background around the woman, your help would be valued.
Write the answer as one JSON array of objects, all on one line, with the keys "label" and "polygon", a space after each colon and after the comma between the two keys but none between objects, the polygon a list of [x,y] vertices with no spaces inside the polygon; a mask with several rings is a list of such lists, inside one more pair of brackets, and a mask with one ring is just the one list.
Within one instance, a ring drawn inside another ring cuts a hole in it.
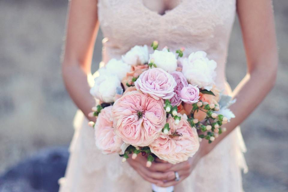
[{"label": "blurred grey-brown outdoor background around the woman", "polygon": [[[76,112],[61,77],[67,3],[0,0],[1,192],[53,191],[58,177],[64,174]],[[249,172],[243,175],[248,192],[288,191],[288,1],[275,0],[274,13],[280,58],[277,83],[241,125],[248,149],[245,157]],[[99,32],[93,71],[101,61],[102,38]],[[232,88],[244,77],[245,66],[236,18],[227,61]],[[37,180],[41,173],[35,166],[46,167],[49,172],[51,165],[59,173],[49,173],[54,177],[54,188],[45,188],[44,181]]]}]

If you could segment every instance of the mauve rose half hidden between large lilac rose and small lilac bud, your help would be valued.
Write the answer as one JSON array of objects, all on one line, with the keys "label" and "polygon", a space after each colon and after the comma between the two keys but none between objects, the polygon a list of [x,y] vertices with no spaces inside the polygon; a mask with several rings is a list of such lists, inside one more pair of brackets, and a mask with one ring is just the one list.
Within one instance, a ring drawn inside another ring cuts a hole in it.
[{"label": "mauve rose half hidden between large lilac rose and small lilac bud", "polygon": [[188,86],[188,82],[186,78],[184,77],[183,73],[179,71],[173,71],[170,73],[173,78],[176,81],[176,87],[174,88],[175,95],[170,99],[171,105],[177,105],[179,106],[182,102],[181,97],[180,97],[180,91],[182,90],[183,87]]}]

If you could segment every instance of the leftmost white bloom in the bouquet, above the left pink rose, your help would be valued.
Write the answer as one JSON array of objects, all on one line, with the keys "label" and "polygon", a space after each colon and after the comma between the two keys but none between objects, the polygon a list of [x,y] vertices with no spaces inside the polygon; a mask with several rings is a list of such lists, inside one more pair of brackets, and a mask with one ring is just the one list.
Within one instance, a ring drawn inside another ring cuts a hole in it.
[{"label": "leftmost white bloom in the bouquet, above the left pink rose", "polygon": [[102,70],[102,74],[95,78],[95,84],[90,89],[90,94],[105,103],[112,103],[117,87],[121,87],[121,82],[117,76],[104,73],[106,71]]}]

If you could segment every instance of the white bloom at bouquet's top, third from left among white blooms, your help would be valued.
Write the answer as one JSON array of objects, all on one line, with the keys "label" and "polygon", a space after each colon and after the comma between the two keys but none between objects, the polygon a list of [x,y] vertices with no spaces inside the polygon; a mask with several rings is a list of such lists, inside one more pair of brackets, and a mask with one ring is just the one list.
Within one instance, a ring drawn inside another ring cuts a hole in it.
[{"label": "white bloom at bouquet's top, third from left among white blooms", "polygon": [[139,65],[147,63],[149,59],[148,47],[134,46],[125,55],[122,55],[122,60],[129,65]]}]

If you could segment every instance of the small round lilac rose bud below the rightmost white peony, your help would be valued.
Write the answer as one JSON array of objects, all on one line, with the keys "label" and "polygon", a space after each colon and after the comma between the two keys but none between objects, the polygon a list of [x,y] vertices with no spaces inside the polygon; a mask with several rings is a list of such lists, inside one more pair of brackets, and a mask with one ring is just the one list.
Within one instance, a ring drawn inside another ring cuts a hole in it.
[{"label": "small round lilac rose bud below the rightmost white peony", "polygon": [[193,85],[188,85],[187,87],[183,87],[180,91],[181,100],[185,103],[192,104],[197,103],[199,101],[199,88]]}]

